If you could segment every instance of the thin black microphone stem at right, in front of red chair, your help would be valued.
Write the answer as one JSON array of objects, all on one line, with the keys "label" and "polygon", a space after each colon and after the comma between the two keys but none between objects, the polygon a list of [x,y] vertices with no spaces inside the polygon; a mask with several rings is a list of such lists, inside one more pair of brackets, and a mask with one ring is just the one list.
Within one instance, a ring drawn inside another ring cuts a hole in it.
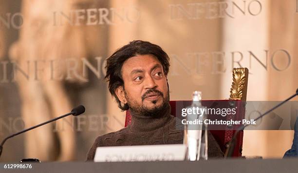
[{"label": "thin black microphone stem at right, in front of red chair", "polygon": [[[278,108],[279,106],[281,106],[282,104],[284,104],[285,102],[289,101],[290,99],[292,99],[293,97],[295,96],[298,96],[298,89],[296,90],[296,93],[293,95],[293,96],[290,96],[289,98],[287,98],[286,100],[280,102],[278,105],[276,105],[275,107],[271,108],[270,110],[268,110],[267,112],[265,112],[264,114],[260,115],[258,118],[255,119],[258,120],[260,119],[261,117],[263,117],[264,115],[267,115],[269,114],[271,111],[275,110],[276,108]],[[227,157],[231,157],[233,152],[234,152],[234,148],[235,148],[235,143],[236,143],[236,139],[237,139],[237,135],[240,131],[244,130],[245,127],[249,126],[250,124],[246,124],[245,126],[242,125],[240,126],[235,134],[233,135],[233,138],[232,140],[230,140],[230,142],[228,143],[228,148],[226,149],[225,151],[225,154],[224,154],[224,158],[227,158]]]}]

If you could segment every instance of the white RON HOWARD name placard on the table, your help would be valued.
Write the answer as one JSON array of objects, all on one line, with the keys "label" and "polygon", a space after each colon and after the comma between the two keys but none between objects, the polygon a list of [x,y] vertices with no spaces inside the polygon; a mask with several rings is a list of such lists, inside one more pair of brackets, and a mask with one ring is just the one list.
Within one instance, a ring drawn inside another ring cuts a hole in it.
[{"label": "white RON HOWARD name placard on the table", "polygon": [[186,145],[135,145],[97,147],[94,162],[181,161]]}]

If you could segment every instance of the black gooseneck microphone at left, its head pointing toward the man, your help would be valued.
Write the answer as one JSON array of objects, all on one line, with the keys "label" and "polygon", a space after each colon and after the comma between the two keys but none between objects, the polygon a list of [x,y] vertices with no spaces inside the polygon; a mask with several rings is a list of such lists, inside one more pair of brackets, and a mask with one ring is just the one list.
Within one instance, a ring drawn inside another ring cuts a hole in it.
[{"label": "black gooseneck microphone at left, its head pointing toward the man", "polygon": [[36,126],[30,127],[30,128],[28,128],[28,129],[22,130],[22,131],[20,131],[20,132],[18,132],[18,133],[16,133],[16,134],[7,136],[5,139],[2,140],[2,142],[1,142],[1,144],[0,144],[0,157],[1,157],[1,154],[2,154],[3,145],[4,145],[4,143],[6,142],[7,139],[12,138],[12,137],[14,137],[14,136],[16,136],[16,135],[25,133],[25,132],[30,131],[30,130],[32,130],[32,129],[35,129],[35,128],[39,127],[39,126],[42,126],[42,125],[48,124],[48,123],[50,123],[50,122],[56,121],[56,120],[58,120],[58,119],[60,119],[60,118],[63,118],[63,117],[65,117],[65,116],[68,116],[68,115],[74,115],[74,116],[77,116],[77,115],[81,115],[81,114],[83,114],[84,112],[85,112],[85,107],[84,107],[83,105],[80,105],[80,106],[75,107],[70,113],[67,113],[67,114],[65,114],[65,115],[56,117],[56,118],[54,118],[54,119],[51,119],[51,120],[46,121],[46,122],[44,122],[44,123],[41,123],[41,124],[38,124],[38,125],[36,125]]}]

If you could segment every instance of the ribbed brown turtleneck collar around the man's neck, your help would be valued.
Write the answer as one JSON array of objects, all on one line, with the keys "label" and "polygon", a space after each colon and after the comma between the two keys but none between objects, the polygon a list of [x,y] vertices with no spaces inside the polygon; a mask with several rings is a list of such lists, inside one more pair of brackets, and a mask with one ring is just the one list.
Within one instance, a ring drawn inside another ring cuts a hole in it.
[{"label": "ribbed brown turtleneck collar around the man's neck", "polygon": [[146,116],[135,115],[130,111],[131,123],[129,128],[132,132],[149,132],[163,127],[170,119],[170,105],[160,115]]}]

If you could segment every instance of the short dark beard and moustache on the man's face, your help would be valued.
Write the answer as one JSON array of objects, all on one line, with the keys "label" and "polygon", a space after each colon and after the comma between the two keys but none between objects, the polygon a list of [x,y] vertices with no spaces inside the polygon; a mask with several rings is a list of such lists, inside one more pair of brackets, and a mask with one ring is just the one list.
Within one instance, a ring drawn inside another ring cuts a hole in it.
[{"label": "short dark beard and moustache on the man's face", "polygon": [[[145,106],[143,104],[144,99],[150,93],[157,93],[162,98],[162,103],[160,105],[156,105],[156,100],[152,100],[153,106]],[[168,111],[169,106],[169,91],[167,93],[167,97],[164,97],[164,94],[156,89],[149,89],[146,93],[144,93],[142,98],[142,105],[138,104],[136,100],[131,99],[125,89],[124,89],[125,98],[127,100],[127,104],[129,106],[129,110],[132,115],[135,116],[150,116],[150,117],[158,117],[163,116]]]}]

